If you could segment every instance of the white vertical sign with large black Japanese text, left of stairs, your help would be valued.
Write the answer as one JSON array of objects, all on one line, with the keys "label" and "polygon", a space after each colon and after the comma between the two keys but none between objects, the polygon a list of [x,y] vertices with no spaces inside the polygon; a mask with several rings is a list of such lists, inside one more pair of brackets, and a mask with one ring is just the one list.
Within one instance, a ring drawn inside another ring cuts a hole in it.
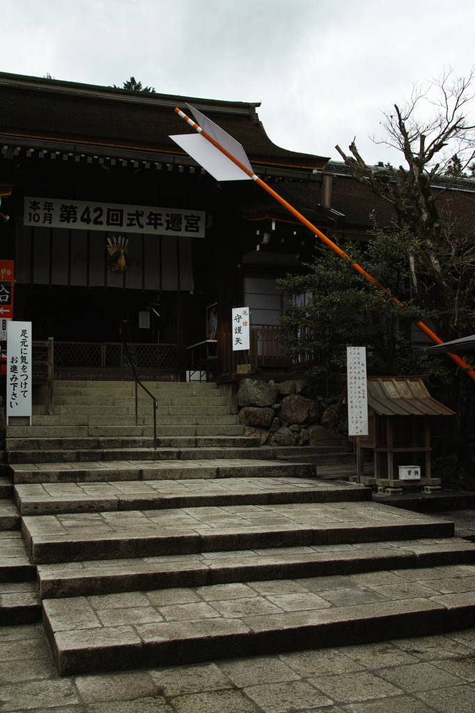
[{"label": "white vertical sign with large black Japanese text, left of stairs", "polygon": [[31,322],[6,324],[6,417],[31,423]]}]

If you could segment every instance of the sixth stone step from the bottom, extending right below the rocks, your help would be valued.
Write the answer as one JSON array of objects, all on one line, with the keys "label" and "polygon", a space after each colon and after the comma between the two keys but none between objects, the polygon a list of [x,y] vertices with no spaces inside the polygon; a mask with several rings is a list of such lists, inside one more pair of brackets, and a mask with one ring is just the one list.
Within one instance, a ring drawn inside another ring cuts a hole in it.
[{"label": "sixth stone step from the bottom, extending right below the rocks", "polygon": [[[170,440],[170,439],[169,439]],[[249,441],[257,439],[249,438]],[[235,460],[236,458],[252,458],[273,460],[279,455],[282,448],[268,448],[250,443],[247,448],[106,448],[106,449],[78,449],[78,450],[53,450],[53,451],[9,451],[8,462],[11,466],[21,464],[46,464],[46,463],[91,463],[98,461],[190,461],[190,460]],[[297,448],[294,448],[297,451]],[[319,449],[320,451],[320,449]],[[280,461],[281,458],[278,458]],[[283,460],[283,459],[282,459]],[[309,459],[307,465],[313,468],[333,464],[335,466],[355,466],[353,453],[320,454]],[[286,460],[283,461],[287,462]]]}]

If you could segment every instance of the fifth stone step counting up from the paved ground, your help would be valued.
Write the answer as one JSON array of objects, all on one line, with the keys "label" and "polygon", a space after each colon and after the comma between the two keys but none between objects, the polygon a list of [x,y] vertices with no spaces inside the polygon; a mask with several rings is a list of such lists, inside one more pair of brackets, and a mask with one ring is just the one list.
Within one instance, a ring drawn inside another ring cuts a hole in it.
[{"label": "fifth stone step counting up from the paved ground", "polygon": [[[262,449],[263,451],[265,449]],[[147,451],[150,454],[150,451]],[[160,451],[155,451],[160,453]],[[252,449],[252,452],[255,452]],[[251,452],[251,456],[252,456]],[[173,451],[171,452],[173,455]],[[170,451],[165,455],[170,456]],[[185,453],[184,453],[185,454]],[[220,452],[223,454],[223,451]],[[211,478],[310,478],[315,466],[275,458],[215,458],[83,463],[21,463],[10,466],[14,483],[113,483],[119,481],[208,480]]]}]

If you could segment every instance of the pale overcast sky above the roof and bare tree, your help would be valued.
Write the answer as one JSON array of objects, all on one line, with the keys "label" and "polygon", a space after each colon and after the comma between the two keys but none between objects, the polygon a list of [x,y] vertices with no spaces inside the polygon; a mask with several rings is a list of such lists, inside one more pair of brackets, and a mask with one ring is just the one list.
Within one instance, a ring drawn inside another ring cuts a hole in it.
[{"label": "pale overcast sky above the roof and bare tree", "polygon": [[381,110],[468,73],[474,20],[474,0],[4,0],[0,71],[260,101],[278,145],[337,159],[356,135],[396,163],[368,138]]}]

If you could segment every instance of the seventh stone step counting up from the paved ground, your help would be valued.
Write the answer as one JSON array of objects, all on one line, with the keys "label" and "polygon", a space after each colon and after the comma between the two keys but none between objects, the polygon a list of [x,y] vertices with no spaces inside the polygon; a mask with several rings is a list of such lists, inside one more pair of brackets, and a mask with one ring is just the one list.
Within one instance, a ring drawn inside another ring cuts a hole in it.
[{"label": "seventh stone step counting up from the paved ground", "polygon": [[[33,426],[32,426],[33,428]],[[258,438],[245,436],[160,436],[158,448],[255,448]],[[7,438],[6,451],[76,451],[109,448],[153,448],[150,436],[85,436],[83,438]]]}]

